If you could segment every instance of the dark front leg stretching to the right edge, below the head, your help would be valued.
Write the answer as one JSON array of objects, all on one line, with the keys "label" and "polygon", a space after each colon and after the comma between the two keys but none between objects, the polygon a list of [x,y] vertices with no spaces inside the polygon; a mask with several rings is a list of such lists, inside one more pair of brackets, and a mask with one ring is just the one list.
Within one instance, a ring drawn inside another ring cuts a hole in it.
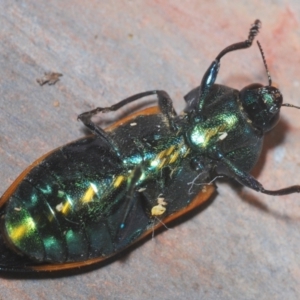
[{"label": "dark front leg stretching to the right edge, below the head", "polygon": [[241,183],[244,186],[247,186],[257,192],[261,192],[263,194],[280,196],[280,195],[288,195],[293,193],[300,193],[300,185],[289,186],[280,190],[266,190],[263,185],[257,181],[252,175],[248,172],[245,172],[235,166],[230,159],[226,158],[222,152],[215,147],[214,155],[217,157],[219,161],[223,163],[226,167],[226,174],[230,177],[234,178],[237,182]]}]

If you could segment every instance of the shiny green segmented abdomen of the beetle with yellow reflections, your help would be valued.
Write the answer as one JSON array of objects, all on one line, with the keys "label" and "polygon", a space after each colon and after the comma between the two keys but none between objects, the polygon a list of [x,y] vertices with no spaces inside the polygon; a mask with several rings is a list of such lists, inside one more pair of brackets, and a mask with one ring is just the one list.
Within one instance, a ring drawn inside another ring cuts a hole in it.
[{"label": "shiny green segmented abdomen of the beetle with yellow reflections", "polygon": [[[89,146],[93,167],[85,168],[81,146]],[[99,151],[105,150],[99,140],[84,139],[76,151],[67,145],[33,168],[6,204],[7,243],[36,261],[80,261],[114,252],[116,229],[109,223],[124,185],[110,175],[112,166],[118,170],[115,158],[107,154],[101,161]]]}]

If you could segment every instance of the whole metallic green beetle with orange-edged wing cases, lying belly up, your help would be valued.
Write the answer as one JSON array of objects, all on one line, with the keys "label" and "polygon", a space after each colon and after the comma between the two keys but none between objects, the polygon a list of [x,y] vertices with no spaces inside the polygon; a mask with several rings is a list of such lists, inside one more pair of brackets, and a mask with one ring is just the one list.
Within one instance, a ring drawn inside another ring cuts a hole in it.
[{"label": "whole metallic green beetle with orange-edged wing cases, lying belly up", "polygon": [[[299,193],[300,186],[266,190],[249,171],[264,133],[279,119],[280,91],[251,84],[241,91],[215,84],[221,58],[248,48],[248,39],[220,52],[177,115],[165,91],[133,95],[111,107],[79,115],[93,133],[38,159],[0,200],[0,270],[52,271],[100,262],[164,223],[206,201],[216,176],[228,176],[269,195]],[[107,130],[92,116],[156,95],[158,107]],[[298,107],[296,107],[298,108]],[[190,185],[192,183],[192,185]]]}]

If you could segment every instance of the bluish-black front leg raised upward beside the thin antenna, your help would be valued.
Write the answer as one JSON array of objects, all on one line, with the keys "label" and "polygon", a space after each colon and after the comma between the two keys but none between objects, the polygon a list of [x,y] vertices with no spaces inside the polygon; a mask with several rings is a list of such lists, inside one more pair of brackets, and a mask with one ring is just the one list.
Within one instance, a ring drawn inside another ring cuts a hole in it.
[{"label": "bluish-black front leg raised upward beside the thin antenna", "polygon": [[[239,42],[239,43],[235,43],[232,44],[228,47],[226,47],[225,49],[223,49],[219,55],[216,57],[216,59],[211,63],[211,65],[209,66],[209,68],[207,69],[207,71],[205,72],[202,81],[201,81],[201,85],[200,85],[200,96],[199,96],[199,100],[198,100],[198,107],[196,108],[198,112],[201,112],[204,105],[205,105],[205,99],[206,96],[209,92],[209,89],[211,88],[211,86],[215,83],[218,72],[219,72],[219,68],[220,68],[220,60],[221,58],[231,52],[231,51],[235,51],[235,50],[241,50],[241,49],[245,49],[245,48],[249,48],[252,45],[252,42],[255,38],[255,36],[258,34],[259,32],[259,28],[261,26],[261,23],[259,20],[256,20],[254,22],[254,24],[251,26],[250,28],[250,32],[248,35],[248,39],[245,40],[244,42]],[[196,114],[197,115],[197,114]]]}]

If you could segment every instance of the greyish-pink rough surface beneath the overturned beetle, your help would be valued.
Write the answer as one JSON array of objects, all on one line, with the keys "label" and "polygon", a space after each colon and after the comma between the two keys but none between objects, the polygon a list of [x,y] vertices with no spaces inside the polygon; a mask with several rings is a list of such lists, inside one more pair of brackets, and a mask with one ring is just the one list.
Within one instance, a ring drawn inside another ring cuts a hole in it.
[{"label": "greyish-pink rough surface beneath the overturned beetle", "polygon": [[[234,2],[1,0],[0,193],[36,158],[84,136],[83,111],[151,89],[168,91],[180,111],[219,51],[244,40],[256,18],[273,81],[300,105],[299,1]],[[41,87],[47,71],[63,77]],[[227,55],[217,81],[267,83],[258,48]],[[299,173],[300,111],[283,108],[253,174],[276,189],[300,184]],[[0,277],[0,299],[299,298],[300,195],[226,181],[201,213],[102,268]]]}]

